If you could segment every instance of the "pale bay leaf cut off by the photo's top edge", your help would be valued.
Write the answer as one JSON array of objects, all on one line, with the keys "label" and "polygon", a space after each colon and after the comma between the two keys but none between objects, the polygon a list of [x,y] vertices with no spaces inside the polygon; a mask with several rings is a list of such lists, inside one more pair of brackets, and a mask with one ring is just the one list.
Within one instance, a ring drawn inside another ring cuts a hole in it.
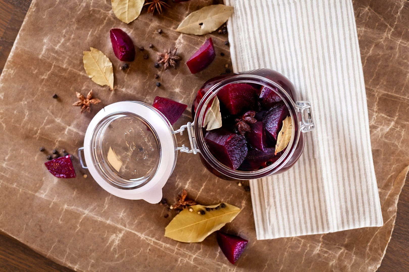
[{"label": "pale bay leaf cut off by the photo's top edge", "polygon": [[112,11],[124,23],[129,24],[141,14],[145,0],[111,0]]}]

